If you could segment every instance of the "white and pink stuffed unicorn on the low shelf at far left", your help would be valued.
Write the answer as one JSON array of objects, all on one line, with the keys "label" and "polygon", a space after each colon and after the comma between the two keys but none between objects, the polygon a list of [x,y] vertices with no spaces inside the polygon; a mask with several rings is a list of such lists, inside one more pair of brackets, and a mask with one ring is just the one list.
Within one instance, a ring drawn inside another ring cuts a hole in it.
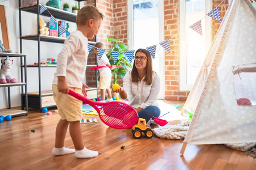
[{"label": "white and pink stuffed unicorn on the low shelf at far left", "polygon": [[9,56],[5,59],[1,59],[1,70],[0,70],[0,83],[16,83],[16,79],[11,75],[10,69],[13,67],[13,59],[9,59]]}]

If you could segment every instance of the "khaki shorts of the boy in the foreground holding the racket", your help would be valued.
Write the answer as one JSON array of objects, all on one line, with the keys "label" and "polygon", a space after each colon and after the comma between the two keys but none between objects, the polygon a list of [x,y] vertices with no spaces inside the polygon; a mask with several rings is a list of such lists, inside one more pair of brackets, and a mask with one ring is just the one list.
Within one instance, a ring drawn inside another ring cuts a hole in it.
[{"label": "khaki shorts of the boy in the foreground holding the racket", "polygon": [[[81,88],[68,87],[70,90],[81,94]],[[58,108],[61,120],[67,120],[70,122],[81,121],[82,120],[82,101],[72,97],[71,95],[66,95],[58,92],[57,85],[52,84],[53,99]]]}]

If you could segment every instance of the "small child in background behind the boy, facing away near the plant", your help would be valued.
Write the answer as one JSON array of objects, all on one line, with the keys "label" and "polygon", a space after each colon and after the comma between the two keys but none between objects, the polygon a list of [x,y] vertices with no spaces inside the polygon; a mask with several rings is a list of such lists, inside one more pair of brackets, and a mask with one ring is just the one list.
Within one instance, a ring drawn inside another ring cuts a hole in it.
[{"label": "small child in background behind the boy, facing away near the plant", "polygon": [[[97,48],[104,48],[104,45],[101,42],[97,42],[97,44],[94,45]],[[97,50],[95,50],[95,53],[98,56]],[[101,59],[97,57],[98,66],[110,66],[109,59],[106,56],[106,54],[103,54]],[[100,71],[100,90],[101,90],[101,102],[106,101],[113,101],[112,94],[110,90],[110,83],[112,80],[112,73],[111,70],[115,69],[115,65],[109,67],[104,67],[102,69],[98,69]],[[105,101],[105,90],[108,93],[109,99]]]}]

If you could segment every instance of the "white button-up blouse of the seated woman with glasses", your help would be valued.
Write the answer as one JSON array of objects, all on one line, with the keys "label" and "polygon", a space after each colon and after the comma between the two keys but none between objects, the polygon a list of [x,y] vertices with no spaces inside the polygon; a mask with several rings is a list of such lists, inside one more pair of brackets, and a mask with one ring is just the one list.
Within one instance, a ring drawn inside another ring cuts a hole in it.
[{"label": "white button-up blouse of the seated woman with glasses", "polygon": [[131,82],[131,70],[126,73],[123,80],[123,88],[127,93],[127,99],[129,104],[137,109],[138,107],[145,109],[146,107],[153,105],[158,99],[160,91],[160,78],[158,74],[153,71],[153,80],[151,85],[147,85],[144,81],[144,77],[141,82]]}]

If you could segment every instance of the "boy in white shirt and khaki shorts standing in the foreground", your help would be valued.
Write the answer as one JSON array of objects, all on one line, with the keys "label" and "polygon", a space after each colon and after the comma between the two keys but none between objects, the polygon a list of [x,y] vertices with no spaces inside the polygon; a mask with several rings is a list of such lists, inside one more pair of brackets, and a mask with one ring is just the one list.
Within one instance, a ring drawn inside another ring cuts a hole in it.
[{"label": "boy in white shirt and khaki shorts standing in the foreground", "polygon": [[[88,150],[82,141],[82,101],[67,94],[71,89],[78,94],[87,95],[85,88],[89,87],[82,83],[82,80],[85,77],[89,54],[88,39],[93,39],[97,35],[102,19],[103,15],[96,7],[82,7],[76,17],[77,30],[65,40],[63,49],[57,56],[57,70],[52,83],[53,98],[60,114],[60,121],[56,127],[55,147],[52,150],[55,156],[74,152],[76,158],[98,156],[97,151]],[[75,149],[64,147],[68,125]]]}]

